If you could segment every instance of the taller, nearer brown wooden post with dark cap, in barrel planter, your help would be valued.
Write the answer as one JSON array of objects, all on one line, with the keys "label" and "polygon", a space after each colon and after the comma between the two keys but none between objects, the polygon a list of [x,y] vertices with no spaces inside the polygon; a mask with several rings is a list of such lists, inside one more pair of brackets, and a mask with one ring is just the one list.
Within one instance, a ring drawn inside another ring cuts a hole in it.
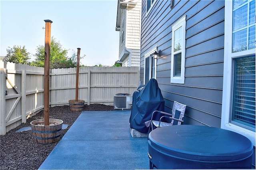
[{"label": "taller, nearer brown wooden post with dark cap, in barrel planter", "polygon": [[44,44],[44,125],[49,125],[49,79],[50,79],[50,47],[51,47],[51,20],[45,22]]}]

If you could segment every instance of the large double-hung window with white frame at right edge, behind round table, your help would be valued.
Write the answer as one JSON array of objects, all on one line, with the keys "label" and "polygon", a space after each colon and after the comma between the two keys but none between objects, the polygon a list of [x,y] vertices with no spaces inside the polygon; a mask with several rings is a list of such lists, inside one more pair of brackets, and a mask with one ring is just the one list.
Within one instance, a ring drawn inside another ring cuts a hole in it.
[{"label": "large double-hung window with white frame at right edge, behind round table", "polygon": [[221,127],[255,146],[255,0],[225,1]]}]

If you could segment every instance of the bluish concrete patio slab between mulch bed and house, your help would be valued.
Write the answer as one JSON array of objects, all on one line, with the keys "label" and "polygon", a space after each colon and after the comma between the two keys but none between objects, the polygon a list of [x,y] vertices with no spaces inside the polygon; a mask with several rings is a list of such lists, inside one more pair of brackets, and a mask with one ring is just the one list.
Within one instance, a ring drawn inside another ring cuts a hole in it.
[{"label": "bluish concrete patio slab between mulch bed and house", "polygon": [[133,138],[128,111],[84,111],[39,169],[149,169],[147,137]]}]

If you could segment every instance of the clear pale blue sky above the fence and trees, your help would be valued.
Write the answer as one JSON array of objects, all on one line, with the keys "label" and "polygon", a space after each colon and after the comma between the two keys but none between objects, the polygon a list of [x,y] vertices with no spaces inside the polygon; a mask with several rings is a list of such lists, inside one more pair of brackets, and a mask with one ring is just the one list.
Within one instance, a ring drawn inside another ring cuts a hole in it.
[{"label": "clear pale blue sky above the fence and trees", "polygon": [[[117,0],[0,0],[0,56],[14,45],[25,45],[36,53],[44,45],[44,20],[52,20],[51,36],[69,49],[81,48],[80,61],[87,66],[114,65],[118,60],[119,32],[116,28]],[[73,51],[74,50],[74,51]]]}]

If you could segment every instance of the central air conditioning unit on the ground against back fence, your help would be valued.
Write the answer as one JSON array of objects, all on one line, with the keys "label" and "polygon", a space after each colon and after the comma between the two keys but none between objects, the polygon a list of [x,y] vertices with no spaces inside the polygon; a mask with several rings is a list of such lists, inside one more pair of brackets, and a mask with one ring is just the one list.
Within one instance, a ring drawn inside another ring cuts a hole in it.
[{"label": "central air conditioning unit on the ground against back fence", "polygon": [[114,95],[114,109],[132,109],[132,95],[128,93]]}]

